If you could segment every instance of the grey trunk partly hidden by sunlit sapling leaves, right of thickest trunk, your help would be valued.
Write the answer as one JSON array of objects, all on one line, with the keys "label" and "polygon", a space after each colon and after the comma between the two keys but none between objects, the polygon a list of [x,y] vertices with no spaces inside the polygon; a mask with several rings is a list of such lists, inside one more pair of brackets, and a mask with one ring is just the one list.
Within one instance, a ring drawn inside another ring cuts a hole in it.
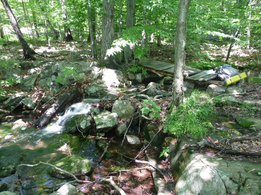
[{"label": "grey trunk partly hidden by sunlit sapling leaves, right of thickest trunk", "polygon": [[[127,0],[127,22],[126,29],[134,27],[135,25],[135,0]],[[124,60],[127,64],[129,59],[132,58],[132,51],[135,48],[134,43],[129,43],[129,45],[124,47]]]}]

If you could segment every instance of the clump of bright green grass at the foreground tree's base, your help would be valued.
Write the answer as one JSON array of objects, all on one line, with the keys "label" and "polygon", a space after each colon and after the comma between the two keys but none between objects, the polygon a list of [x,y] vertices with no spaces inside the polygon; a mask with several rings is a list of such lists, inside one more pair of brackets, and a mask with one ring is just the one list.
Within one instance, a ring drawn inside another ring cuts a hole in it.
[{"label": "clump of bright green grass at the foreground tree's base", "polygon": [[184,103],[167,114],[164,132],[177,137],[189,134],[202,138],[211,128],[209,119],[214,115],[212,107],[208,94],[193,90]]}]

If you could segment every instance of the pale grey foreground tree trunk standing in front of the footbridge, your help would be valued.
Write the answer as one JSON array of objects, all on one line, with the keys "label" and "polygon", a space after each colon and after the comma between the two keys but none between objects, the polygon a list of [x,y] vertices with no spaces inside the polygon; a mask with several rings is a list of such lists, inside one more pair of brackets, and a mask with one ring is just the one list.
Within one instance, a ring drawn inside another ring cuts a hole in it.
[{"label": "pale grey foreground tree trunk standing in front of the footbridge", "polygon": [[172,106],[179,106],[183,100],[183,73],[185,69],[185,44],[187,15],[191,0],[180,0],[175,33],[175,54],[173,74]]}]

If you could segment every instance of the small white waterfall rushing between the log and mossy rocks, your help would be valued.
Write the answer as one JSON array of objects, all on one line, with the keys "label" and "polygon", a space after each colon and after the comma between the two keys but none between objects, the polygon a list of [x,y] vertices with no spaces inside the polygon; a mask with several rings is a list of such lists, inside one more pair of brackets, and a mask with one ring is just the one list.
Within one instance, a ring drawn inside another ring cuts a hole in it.
[{"label": "small white waterfall rushing between the log and mossy rocks", "polygon": [[61,131],[73,116],[87,114],[90,112],[90,107],[90,104],[85,101],[69,106],[64,112],[64,115],[59,116],[58,120],[53,125],[44,128],[43,131],[45,133],[55,133]]}]

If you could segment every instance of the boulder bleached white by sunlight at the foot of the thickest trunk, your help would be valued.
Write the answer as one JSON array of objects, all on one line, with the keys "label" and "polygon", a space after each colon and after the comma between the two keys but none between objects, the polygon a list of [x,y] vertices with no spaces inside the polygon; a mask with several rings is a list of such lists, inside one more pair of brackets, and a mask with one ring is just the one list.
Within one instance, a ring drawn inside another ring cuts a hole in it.
[{"label": "boulder bleached white by sunlight at the foot of the thickest trunk", "polygon": [[105,68],[102,74],[102,80],[107,87],[118,87],[120,80],[123,80],[123,73],[120,70]]}]

